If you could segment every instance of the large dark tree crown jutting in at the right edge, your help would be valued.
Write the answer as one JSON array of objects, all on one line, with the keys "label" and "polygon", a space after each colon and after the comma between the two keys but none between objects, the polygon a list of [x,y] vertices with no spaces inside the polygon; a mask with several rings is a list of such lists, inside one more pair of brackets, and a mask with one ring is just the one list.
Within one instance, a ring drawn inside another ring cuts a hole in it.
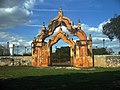
[{"label": "large dark tree crown jutting in at the right edge", "polygon": [[120,15],[115,15],[103,25],[103,34],[107,35],[110,40],[117,38],[120,41]]}]

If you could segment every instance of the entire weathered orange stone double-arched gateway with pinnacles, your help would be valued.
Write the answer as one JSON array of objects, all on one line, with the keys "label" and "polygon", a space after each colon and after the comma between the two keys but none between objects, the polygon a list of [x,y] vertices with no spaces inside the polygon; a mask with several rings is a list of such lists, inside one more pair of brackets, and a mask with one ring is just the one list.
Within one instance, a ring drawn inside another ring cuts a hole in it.
[{"label": "entire weathered orange stone double-arched gateway with pinnacles", "polygon": [[[68,35],[62,32],[62,28],[54,35],[52,39],[45,42],[45,39],[51,36],[55,29],[59,26],[65,26],[67,30],[78,37],[79,40],[74,42],[68,38]],[[92,66],[92,38],[91,35],[87,39],[87,36],[83,30],[81,30],[80,21],[78,26],[74,27],[73,22],[63,15],[62,9],[58,12],[58,16],[50,21],[48,28],[43,24],[42,32],[34,38],[32,42],[32,65],[33,66],[49,66],[51,46],[59,39],[63,39],[64,42],[71,46],[72,66],[75,67],[91,67]]]}]

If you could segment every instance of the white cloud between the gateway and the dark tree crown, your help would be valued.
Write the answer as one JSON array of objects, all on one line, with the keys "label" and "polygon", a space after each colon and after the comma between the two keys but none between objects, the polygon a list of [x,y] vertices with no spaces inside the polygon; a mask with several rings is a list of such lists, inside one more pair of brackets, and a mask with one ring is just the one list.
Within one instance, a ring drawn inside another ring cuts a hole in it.
[{"label": "white cloud between the gateway and the dark tree crown", "polygon": [[105,47],[112,48],[115,53],[118,53],[120,51],[119,41],[117,39],[111,41],[106,35],[103,35],[102,33],[102,26],[107,22],[110,22],[110,20],[100,23],[98,27],[92,27],[87,24],[81,24],[81,26],[82,29],[87,34],[87,36],[89,34],[92,34],[93,48],[95,48],[96,46],[103,47],[103,39],[104,39]]}]

